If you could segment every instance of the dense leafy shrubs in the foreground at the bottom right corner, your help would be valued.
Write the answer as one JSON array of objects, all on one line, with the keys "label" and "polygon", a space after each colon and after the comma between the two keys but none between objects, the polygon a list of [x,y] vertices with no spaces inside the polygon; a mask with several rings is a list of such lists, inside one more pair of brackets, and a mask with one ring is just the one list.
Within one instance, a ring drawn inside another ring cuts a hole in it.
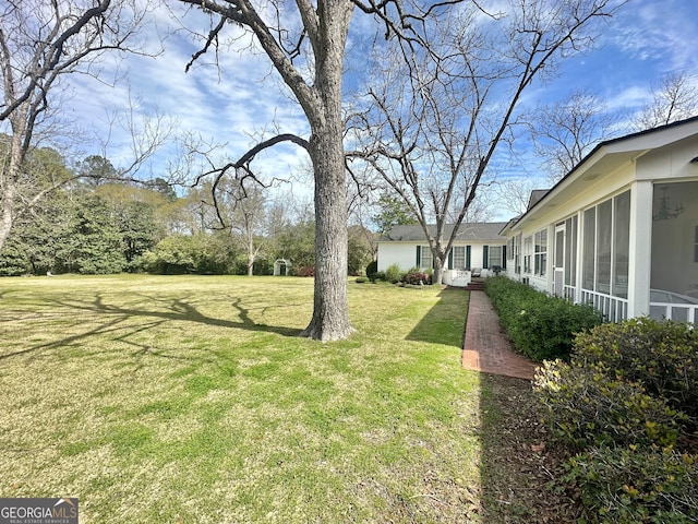
[{"label": "dense leafy shrubs in the foreground at the bottom right corner", "polygon": [[533,388],[543,421],[577,452],[561,480],[587,522],[696,522],[693,326],[650,319],[597,326],[577,335],[569,364],[545,362]]}]

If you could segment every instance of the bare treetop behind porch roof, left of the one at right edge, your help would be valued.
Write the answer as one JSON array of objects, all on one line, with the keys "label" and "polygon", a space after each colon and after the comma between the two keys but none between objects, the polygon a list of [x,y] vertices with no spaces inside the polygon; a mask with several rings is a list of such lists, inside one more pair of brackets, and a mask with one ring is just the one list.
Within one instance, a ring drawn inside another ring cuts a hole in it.
[{"label": "bare treetop behind porch roof, left of the one at right edge", "polygon": [[552,186],[599,142],[611,138],[619,116],[607,111],[597,95],[582,90],[562,102],[539,106],[527,120],[534,152]]}]

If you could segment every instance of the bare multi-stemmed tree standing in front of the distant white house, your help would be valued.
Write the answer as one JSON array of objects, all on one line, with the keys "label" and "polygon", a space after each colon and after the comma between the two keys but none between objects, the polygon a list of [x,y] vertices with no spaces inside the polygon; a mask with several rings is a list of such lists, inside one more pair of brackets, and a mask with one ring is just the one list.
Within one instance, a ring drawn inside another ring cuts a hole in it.
[{"label": "bare multi-stemmed tree standing in front of the distant white house", "polygon": [[377,50],[383,63],[395,58],[371,79],[366,107],[352,119],[351,156],[371,165],[419,219],[434,283],[491,181],[491,162],[517,123],[522,94],[562,58],[590,46],[594,22],[622,3],[515,0],[488,13],[473,2],[436,17],[423,45],[390,39]]}]

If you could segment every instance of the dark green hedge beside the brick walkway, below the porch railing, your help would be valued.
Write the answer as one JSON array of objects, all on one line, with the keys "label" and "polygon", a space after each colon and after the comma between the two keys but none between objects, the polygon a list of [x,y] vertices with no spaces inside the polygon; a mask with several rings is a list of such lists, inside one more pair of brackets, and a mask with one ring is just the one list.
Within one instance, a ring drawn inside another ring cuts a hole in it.
[{"label": "dark green hedge beside the brick walkway, below the porch railing", "polygon": [[506,276],[485,281],[485,291],[514,345],[535,361],[567,359],[575,334],[602,322],[590,306],[553,297]]}]

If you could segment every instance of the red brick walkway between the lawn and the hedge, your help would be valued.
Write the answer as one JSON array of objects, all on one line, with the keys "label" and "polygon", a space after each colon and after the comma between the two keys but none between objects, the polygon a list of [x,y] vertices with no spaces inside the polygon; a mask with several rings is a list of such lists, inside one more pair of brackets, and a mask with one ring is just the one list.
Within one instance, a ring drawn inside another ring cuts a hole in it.
[{"label": "red brick walkway between the lawn and the hedge", "polygon": [[528,380],[533,378],[537,366],[514,353],[484,291],[470,291],[461,362],[466,369]]}]

